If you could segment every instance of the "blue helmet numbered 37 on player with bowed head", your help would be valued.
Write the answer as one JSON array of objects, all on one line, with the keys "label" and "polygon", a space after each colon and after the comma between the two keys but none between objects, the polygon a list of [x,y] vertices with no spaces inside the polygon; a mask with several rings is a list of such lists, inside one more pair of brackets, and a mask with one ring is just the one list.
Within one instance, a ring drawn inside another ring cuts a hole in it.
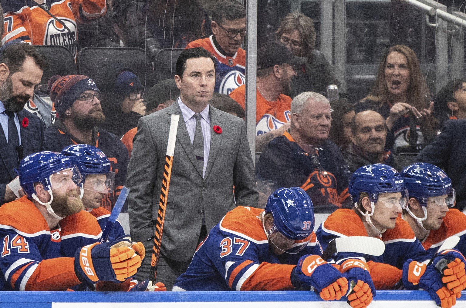
[{"label": "blue helmet numbered 37 on player with bowed head", "polygon": [[288,239],[306,239],[314,230],[314,206],[300,187],[275,190],[268,197],[265,211],[272,213],[277,231]]}]

